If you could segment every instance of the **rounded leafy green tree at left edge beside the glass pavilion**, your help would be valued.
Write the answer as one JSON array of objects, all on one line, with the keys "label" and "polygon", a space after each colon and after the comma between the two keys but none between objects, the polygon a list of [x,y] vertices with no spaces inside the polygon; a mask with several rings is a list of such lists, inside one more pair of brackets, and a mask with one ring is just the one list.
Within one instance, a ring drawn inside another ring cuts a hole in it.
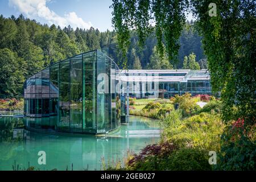
[{"label": "rounded leafy green tree at left edge beside the glass pavilion", "polygon": [[0,49],[0,98],[22,96],[25,64],[17,53]]}]

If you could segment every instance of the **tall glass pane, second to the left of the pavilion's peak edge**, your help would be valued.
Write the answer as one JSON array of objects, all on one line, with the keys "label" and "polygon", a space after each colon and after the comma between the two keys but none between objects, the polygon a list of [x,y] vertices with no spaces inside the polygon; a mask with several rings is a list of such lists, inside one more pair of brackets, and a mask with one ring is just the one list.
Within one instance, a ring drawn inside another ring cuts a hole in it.
[{"label": "tall glass pane, second to the left of the pavilion's peak edge", "polygon": [[82,55],[71,58],[71,131],[82,132]]}]

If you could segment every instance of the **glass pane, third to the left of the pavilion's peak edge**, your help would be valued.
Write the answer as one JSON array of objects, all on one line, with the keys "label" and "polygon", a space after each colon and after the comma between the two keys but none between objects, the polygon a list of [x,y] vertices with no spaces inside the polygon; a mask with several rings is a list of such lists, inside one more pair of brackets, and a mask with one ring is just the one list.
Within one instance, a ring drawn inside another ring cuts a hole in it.
[{"label": "glass pane, third to the left of the pavilion's peak edge", "polygon": [[69,81],[70,69],[69,59],[60,63],[60,108],[59,108],[59,130],[70,131],[69,127]]}]

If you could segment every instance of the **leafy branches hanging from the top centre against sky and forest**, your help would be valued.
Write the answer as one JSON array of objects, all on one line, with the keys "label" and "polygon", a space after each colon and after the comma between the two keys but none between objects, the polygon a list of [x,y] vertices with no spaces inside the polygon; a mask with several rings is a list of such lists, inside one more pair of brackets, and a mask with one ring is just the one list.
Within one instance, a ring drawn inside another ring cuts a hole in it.
[{"label": "leafy branches hanging from the top centre against sky and forest", "polygon": [[176,64],[179,51],[177,40],[183,30],[188,4],[188,1],[180,0],[113,0],[110,6],[113,8],[112,23],[117,31],[118,46],[123,56],[126,56],[130,45],[131,30],[138,32],[141,46],[145,38],[155,31],[158,40],[156,48],[160,56],[164,57],[166,49],[168,59]]}]

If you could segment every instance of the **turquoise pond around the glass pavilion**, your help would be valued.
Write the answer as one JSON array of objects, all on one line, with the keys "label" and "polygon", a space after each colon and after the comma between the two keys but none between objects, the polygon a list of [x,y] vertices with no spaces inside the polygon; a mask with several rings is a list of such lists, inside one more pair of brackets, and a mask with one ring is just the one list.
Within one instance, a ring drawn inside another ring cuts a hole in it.
[{"label": "turquoise pond around the glass pavilion", "polygon": [[[40,170],[100,170],[101,159],[123,159],[127,151],[139,152],[160,138],[159,122],[144,117],[130,117],[108,137],[95,135],[53,135],[23,129],[23,119],[0,118],[0,170],[34,166]],[[39,151],[46,152],[46,164],[39,165]]]}]

